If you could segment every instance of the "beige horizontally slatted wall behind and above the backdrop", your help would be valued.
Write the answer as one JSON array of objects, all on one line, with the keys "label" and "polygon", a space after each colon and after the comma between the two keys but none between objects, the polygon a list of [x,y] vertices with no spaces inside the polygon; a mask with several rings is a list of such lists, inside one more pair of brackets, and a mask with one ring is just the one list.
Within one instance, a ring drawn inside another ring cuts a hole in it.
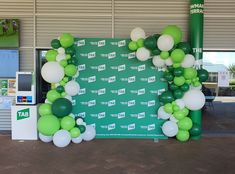
[{"label": "beige horizontally slatted wall behind and above the backdrop", "polygon": [[[0,18],[20,19],[20,70],[33,71],[34,51],[50,47],[63,32],[129,37],[136,26],[150,35],[176,24],[187,40],[188,5],[189,0],[0,0]],[[234,0],[205,0],[204,49],[235,50],[234,9]],[[10,111],[0,110],[0,130],[9,129]]]}]

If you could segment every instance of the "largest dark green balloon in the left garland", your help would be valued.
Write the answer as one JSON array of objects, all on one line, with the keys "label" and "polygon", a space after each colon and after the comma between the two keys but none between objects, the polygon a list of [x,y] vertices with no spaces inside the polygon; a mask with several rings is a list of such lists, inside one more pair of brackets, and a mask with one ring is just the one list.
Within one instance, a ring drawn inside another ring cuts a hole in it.
[{"label": "largest dark green balloon in the left garland", "polygon": [[64,117],[71,113],[72,103],[66,98],[58,98],[52,103],[52,113],[57,117]]}]

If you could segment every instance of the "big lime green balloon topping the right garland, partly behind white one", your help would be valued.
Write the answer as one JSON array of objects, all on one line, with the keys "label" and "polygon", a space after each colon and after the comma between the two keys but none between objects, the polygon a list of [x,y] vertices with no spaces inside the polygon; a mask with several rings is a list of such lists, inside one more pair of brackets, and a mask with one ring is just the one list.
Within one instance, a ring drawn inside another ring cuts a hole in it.
[{"label": "big lime green balloon topping the right garland, partly behind white one", "polygon": [[161,34],[168,34],[172,36],[175,44],[178,44],[182,40],[182,31],[176,25],[168,25],[162,30]]}]

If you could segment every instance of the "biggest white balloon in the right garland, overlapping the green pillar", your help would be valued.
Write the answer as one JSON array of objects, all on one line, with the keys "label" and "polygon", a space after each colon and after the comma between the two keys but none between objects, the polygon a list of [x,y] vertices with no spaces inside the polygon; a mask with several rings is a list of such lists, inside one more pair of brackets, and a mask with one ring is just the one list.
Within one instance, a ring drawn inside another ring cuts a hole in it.
[{"label": "biggest white balloon in the right garland, overlapping the green pillar", "polygon": [[201,91],[195,89],[187,91],[184,94],[183,100],[185,106],[192,111],[201,109],[206,101],[205,95]]}]

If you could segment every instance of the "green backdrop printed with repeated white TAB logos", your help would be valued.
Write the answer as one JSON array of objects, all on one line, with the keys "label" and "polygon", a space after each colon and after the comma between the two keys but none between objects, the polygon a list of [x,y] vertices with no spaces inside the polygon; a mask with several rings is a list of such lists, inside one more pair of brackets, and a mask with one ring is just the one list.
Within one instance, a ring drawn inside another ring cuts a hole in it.
[{"label": "green backdrop printed with repeated white TAB logos", "polygon": [[161,81],[151,60],[140,62],[129,39],[76,39],[79,95],[73,113],[96,127],[97,138],[166,139],[157,119]]}]

